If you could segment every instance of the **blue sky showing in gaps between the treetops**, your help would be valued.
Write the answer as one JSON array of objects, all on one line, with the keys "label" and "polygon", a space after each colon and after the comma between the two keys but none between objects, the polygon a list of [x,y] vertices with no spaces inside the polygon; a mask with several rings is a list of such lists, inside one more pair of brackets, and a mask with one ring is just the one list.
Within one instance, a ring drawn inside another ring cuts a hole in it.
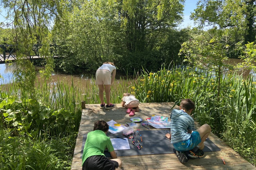
[{"label": "blue sky showing in gaps between the treetops", "polygon": [[[184,21],[182,24],[180,24],[180,28],[185,28],[187,25],[190,25],[191,27],[194,27],[194,21],[189,20],[190,13],[194,11],[196,8],[196,0],[186,0],[184,5]],[[0,10],[2,11],[0,13],[0,22],[4,22],[5,18],[3,16],[6,15],[5,10],[1,7]],[[2,16],[3,15],[3,16]]]}]

